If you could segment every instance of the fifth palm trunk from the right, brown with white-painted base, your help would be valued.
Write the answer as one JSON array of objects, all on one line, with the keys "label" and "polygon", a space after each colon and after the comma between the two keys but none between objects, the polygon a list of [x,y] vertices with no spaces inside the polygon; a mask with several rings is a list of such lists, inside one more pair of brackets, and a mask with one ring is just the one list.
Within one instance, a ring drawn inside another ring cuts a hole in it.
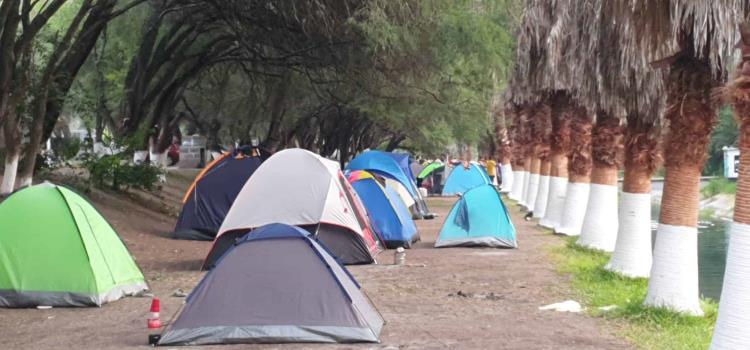
[{"label": "fifth palm trunk from the right, brown with white-painted base", "polygon": [[585,108],[575,108],[570,121],[570,140],[568,186],[560,225],[555,227],[555,232],[578,236],[586,215],[591,182],[591,117]]}]

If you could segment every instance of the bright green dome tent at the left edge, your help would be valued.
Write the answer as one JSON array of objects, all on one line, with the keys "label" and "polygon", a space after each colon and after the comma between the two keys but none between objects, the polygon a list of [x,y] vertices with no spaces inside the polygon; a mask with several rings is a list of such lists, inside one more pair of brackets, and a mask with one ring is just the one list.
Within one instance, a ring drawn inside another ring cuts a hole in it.
[{"label": "bright green dome tent at the left edge", "polygon": [[0,203],[0,307],[101,306],[148,289],[115,230],[52,184]]}]

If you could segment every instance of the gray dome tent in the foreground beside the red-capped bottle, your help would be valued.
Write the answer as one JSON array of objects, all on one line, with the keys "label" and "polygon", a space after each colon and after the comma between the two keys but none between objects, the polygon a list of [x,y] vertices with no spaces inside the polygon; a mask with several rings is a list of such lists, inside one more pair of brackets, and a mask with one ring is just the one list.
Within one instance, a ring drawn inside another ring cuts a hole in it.
[{"label": "gray dome tent in the foreground beside the red-capped bottle", "polygon": [[307,231],[270,224],[218,260],[159,345],[378,342],[383,323]]}]

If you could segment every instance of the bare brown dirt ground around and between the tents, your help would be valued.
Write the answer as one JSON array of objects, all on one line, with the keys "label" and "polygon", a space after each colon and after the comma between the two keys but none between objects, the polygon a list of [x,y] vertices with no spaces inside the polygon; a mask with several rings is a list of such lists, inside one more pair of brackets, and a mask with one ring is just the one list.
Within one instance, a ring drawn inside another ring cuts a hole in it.
[{"label": "bare brown dirt ground around and between the tents", "polygon": [[[199,267],[210,245],[167,237],[192,175],[170,176],[169,185],[160,193],[135,199],[103,192],[91,195],[128,245],[152,292],[161,297],[163,321],[184,301],[172,294],[177,289],[190,291],[201,279]],[[377,265],[350,268],[387,322],[381,344],[191,349],[630,348],[612,335],[615,326],[601,319],[537,309],[570,298],[566,278],[555,272],[545,253],[546,247],[562,244],[562,240],[523,221],[516,210],[512,214],[519,249],[434,249],[437,232],[454,201],[428,200],[430,209],[440,216],[417,222],[422,242],[407,251],[405,266],[391,265],[393,251],[385,251]],[[150,299],[134,297],[102,308],[0,309],[0,348],[145,348],[149,305]]]}]

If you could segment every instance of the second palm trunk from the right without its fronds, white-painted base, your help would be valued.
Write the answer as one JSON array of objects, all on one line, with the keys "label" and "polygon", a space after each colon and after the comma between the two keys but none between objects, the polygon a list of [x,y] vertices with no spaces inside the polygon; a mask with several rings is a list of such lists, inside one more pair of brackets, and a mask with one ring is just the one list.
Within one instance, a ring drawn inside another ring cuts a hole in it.
[{"label": "second palm trunk from the right without its fronds, white-painted base", "polygon": [[[686,50],[690,51],[690,50]],[[666,177],[645,304],[702,315],[698,294],[698,194],[715,107],[707,62],[683,55],[667,81]]]}]

